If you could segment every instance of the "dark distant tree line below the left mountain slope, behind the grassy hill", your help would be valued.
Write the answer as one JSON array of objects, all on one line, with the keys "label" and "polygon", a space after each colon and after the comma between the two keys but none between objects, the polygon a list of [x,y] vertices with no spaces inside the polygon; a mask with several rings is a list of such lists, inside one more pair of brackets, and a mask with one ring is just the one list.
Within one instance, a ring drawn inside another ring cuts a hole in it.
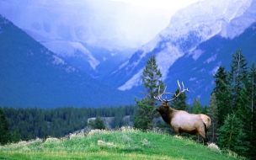
[{"label": "dark distant tree line below the left mountain slope, behind the grassy hill", "polygon": [[135,112],[135,105],[56,109],[0,107],[0,142],[6,144],[20,140],[28,141],[36,137],[65,136],[87,127],[88,118],[92,117],[114,117],[111,128],[120,127],[126,125],[124,116],[134,115]]}]

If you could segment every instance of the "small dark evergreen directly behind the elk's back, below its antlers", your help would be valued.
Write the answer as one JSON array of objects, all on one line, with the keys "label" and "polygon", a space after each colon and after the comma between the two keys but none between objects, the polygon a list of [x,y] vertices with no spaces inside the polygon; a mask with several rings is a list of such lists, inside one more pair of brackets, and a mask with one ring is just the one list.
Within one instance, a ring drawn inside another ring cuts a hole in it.
[{"label": "small dark evergreen directly behind the elk's back, below its antlers", "polygon": [[[177,89],[175,91],[175,93],[173,94],[173,98],[175,97],[175,95],[177,95],[179,93],[179,89]],[[173,109],[178,109],[178,110],[187,110],[188,104],[186,103],[186,99],[187,99],[187,95],[186,93],[181,93],[179,95],[179,97],[177,99],[174,99],[170,105]]]}]

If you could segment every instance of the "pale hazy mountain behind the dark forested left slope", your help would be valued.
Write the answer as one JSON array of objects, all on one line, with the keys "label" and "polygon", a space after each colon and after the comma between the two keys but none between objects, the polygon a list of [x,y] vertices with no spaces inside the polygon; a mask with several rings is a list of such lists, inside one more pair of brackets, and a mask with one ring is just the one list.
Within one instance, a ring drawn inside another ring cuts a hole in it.
[{"label": "pale hazy mountain behind the dark forested left slope", "polygon": [[[109,8],[125,8],[123,3],[101,3]],[[111,21],[117,11],[109,13],[109,8],[99,8],[99,2],[94,1],[0,0],[0,14],[62,60],[99,78],[135,51],[121,47],[124,37],[112,29]]]}]

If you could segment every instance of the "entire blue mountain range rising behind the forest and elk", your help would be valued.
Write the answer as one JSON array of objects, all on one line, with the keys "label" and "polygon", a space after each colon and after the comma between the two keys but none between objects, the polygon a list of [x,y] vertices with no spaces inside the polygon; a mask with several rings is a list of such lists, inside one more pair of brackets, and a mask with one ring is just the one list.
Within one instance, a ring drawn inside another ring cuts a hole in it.
[{"label": "entire blue mountain range rising behind the forest and elk", "polygon": [[[147,44],[126,50],[74,40],[73,34],[67,36],[73,33],[72,25],[58,31],[50,18],[28,20],[23,30],[1,19],[0,105],[132,104],[135,96],[142,97],[141,72],[152,55],[168,92],[178,88],[177,80],[183,81],[190,91],[188,103],[198,98],[206,105],[215,86],[213,75],[220,66],[229,69],[233,53],[242,49],[249,64],[256,60],[256,0],[191,4],[174,14],[167,28]],[[19,27],[17,19],[13,22]]]}]

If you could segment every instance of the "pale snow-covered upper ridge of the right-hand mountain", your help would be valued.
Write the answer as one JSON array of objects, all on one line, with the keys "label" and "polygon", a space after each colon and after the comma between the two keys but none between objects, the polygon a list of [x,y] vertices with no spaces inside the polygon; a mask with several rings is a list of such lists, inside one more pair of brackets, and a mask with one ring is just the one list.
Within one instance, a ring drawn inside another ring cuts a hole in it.
[{"label": "pale snow-covered upper ridge of the right-hand mountain", "polygon": [[[164,80],[168,75],[168,68],[180,56],[185,53],[196,54],[192,55],[195,61],[201,56],[203,52],[194,51],[201,42],[215,35],[233,38],[243,33],[255,20],[256,0],[205,0],[193,3],[175,13],[167,28],[141,47],[142,52],[136,61],[123,64],[120,68],[126,68],[131,73],[138,64],[146,63],[143,57],[153,53],[157,57],[157,65],[161,68]],[[138,76],[140,72],[133,74],[136,77],[130,76],[131,79],[121,85],[120,89],[132,88],[131,82],[140,82],[139,79],[135,80],[141,78]]]}]

